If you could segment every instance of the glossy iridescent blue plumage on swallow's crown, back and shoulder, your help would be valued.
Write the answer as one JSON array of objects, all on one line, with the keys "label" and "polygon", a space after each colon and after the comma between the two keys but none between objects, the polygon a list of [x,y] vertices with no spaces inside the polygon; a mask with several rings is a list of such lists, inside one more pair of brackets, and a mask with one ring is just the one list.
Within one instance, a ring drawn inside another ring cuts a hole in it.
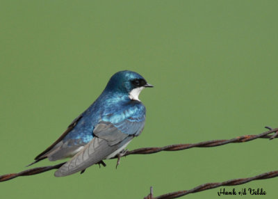
[{"label": "glossy iridescent blue plumage on swallow's crown, back and shoulder", "polygon": [[[115,125],[120,122],[124,123],[125,120],[126,124],[129,124],[127,123],[129,121],[144,125],[145,106],[141,102],[129,99],[128,93],[133,89],[130,83],[132,79],[143,79],[143,77],[129,71],[114,74],[103,93],[81,114],[82,118],[63,141],[81,139],[83,143],[88,143],[92,140],[92,131],[99,120],[112,122]],[[122,86],[122,83],[125,86]],[[128,126],[122,130],[125,134],[133,134],[133,129]]]}]

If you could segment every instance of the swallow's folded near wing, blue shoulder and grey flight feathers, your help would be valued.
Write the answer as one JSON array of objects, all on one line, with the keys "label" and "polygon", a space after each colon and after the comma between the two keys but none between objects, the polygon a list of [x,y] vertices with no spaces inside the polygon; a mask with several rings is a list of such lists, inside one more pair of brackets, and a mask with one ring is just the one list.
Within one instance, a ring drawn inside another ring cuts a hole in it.
[{"label": "swallow's folded near wing, blue shoulder and grey flight feathers", "polygon": [[71,175],[115,156],[134,136],[142,132],[145,125],[145,106],[141,107],[144,108],[141,112],[133,111],[133,114],[124,120],[118,121],[112,115],[99,121],[92,132],[92,140],[70,161],[56,170],[55,176]]}]

